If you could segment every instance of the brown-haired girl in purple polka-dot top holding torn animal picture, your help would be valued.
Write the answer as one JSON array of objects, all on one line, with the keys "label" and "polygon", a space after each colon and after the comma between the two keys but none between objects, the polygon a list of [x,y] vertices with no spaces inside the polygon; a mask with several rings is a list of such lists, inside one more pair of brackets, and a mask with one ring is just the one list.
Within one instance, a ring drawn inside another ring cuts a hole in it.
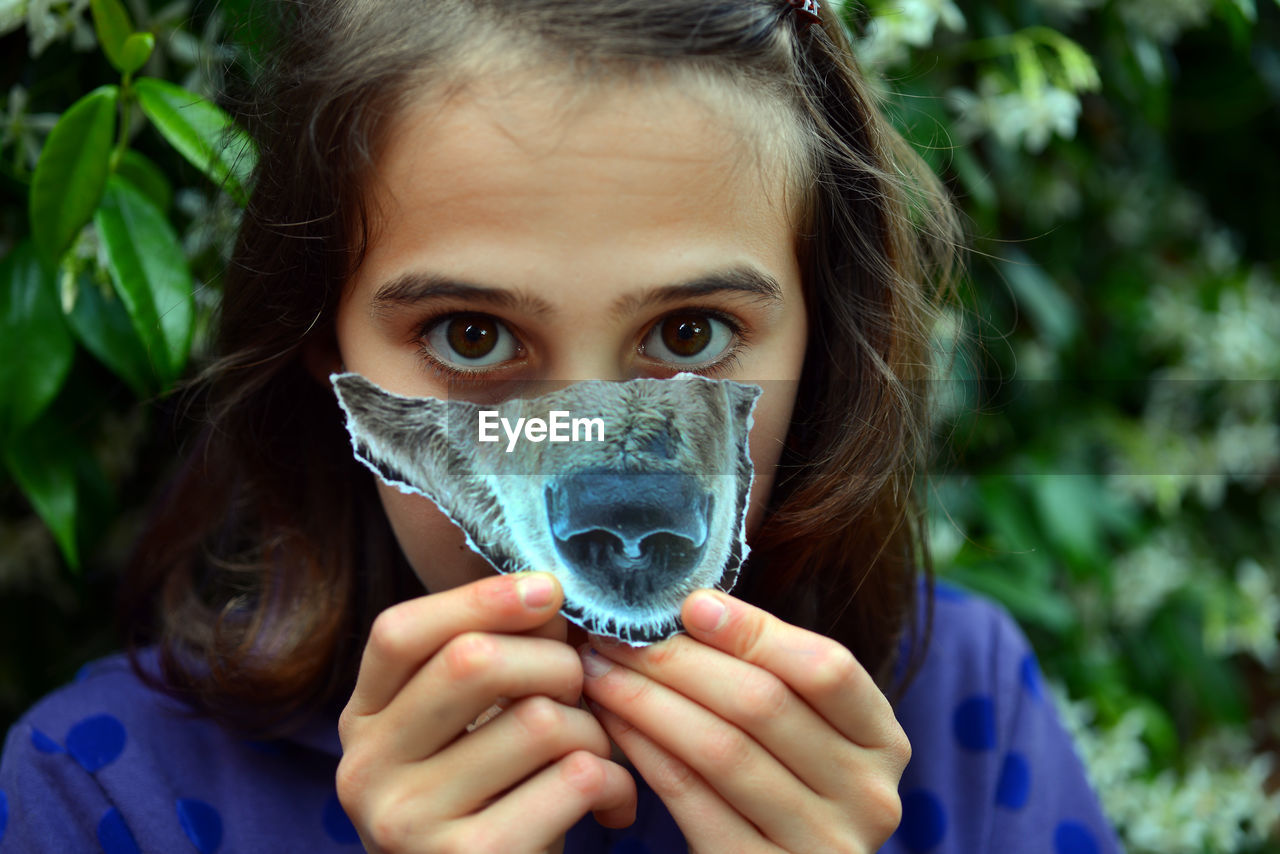
[{"label": "brown-haired girl in purple polka-dot top holding torn animal picture", "polygon": [[[0,850],[1111,850],[1016,629],[918,584],[952,219],[831,10],[288,17],[133,668],[10,732]],[[343,367],[760,384],[740,588],[653,648],[582,636],[549,575],[495,576],[353,460]]]}]

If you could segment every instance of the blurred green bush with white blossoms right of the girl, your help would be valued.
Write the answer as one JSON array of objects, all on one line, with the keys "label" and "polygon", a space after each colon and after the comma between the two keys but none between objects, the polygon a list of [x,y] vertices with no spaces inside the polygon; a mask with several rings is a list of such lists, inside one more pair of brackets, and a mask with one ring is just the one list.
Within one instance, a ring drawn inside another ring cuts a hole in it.
[{"label": "blurred green bush with white blossoms right of the girl", "polygon": [[942,574],[1021,621],[1130,851],[1275,850],[1277,5],[842,12],[973,237]]}]

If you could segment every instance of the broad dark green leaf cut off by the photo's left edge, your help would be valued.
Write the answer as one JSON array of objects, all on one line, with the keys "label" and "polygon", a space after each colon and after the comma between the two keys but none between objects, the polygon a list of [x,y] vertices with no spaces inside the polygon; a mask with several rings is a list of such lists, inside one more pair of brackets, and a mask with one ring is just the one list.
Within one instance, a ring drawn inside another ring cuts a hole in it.
[{"label": "broad dark green leaf cut off by the photo's left edge", "polygon": [[20,243],[0,262],[0,438],[40,416],[63,387],[74,343],[58,282]]}]

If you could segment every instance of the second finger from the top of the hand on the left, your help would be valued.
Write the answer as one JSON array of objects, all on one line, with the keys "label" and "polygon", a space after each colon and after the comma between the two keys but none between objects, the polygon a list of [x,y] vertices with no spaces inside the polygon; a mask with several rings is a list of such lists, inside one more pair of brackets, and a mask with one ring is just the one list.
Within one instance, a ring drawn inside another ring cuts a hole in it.
[{"label": "second finger from the top of the hand on the left", "polygon": [[570,647],[468,631],[451,639],[387,708],[366,721],[376,722],[381,754],[412,762],[456,739],[498,698],[543,695],[577,705],[581,693],[582,665]]}]

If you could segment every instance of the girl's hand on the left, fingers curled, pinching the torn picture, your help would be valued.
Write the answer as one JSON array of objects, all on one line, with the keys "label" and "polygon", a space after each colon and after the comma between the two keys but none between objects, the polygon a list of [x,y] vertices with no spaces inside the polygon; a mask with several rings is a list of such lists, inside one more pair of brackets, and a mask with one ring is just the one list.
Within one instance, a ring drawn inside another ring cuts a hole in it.
[{"label": "girl's hand on the left, fingers curled, pinching the torn picture", "polygon": [[379,615],[338,721],[338,799],[369,851],[545,851],[590,810],[631,823],[635,782],[577,708],[581,662],[545,636],[561,595],[531,572]]}]

